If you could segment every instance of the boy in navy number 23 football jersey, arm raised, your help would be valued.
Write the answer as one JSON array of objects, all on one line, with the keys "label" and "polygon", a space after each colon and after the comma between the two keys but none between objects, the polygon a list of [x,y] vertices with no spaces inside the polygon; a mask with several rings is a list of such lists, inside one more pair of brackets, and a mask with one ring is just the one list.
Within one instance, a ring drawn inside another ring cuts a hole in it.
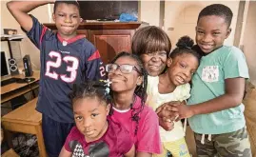
[{"label": "boy in navy number 23 football jersey, arm raised", "polygon": [[[73,113],[69,92],[74,83],[101,77],[102,61],[97,49],[77,35],[82,22],[76,1],[56,1],[52,19],[57,32],[46,28],[28,14],[39,6],[53,1],[11,1],[10,13],[27,33],[30,41],[40,49],[40,90],[36,109],[42,113],[44,141],[49,157],[59,155],[70,128]],[[44,13],[44,12],[42,12]]]}]

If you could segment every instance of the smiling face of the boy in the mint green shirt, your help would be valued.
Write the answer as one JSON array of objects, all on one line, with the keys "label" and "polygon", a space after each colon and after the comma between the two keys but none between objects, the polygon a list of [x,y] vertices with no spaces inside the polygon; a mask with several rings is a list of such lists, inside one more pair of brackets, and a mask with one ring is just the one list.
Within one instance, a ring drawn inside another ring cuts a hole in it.
[{"label": "smiling face of the boy in the mint green shirt", "polygon": [[196,43],[205,53],[223,46],[231,29],[227,28],[224,17],[216,15],[203,16],[196,27]]}]

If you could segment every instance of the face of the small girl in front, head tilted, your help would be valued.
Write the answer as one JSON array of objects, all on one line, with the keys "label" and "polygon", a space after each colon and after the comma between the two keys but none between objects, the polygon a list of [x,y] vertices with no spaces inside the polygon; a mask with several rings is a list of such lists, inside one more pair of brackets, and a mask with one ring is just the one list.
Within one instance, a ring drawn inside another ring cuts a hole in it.
[{"label": "face of the small girl in front, head tilted", "polygon": [[108,128],[109,105],[104,103],[96,98],[83,98],[73,104],[76,127],[85,135],[87,142],[101,138]]}]

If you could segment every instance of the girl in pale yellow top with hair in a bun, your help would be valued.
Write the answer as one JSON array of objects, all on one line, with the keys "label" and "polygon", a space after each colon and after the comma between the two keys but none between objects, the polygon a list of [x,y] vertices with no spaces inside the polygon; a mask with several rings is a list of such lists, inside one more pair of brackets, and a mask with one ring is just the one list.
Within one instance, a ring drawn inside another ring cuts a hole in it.
[{"label": "girl in pale yellow top with hair in a bun", "polygon": [[[157,112],[169,112],[165,108],[165,103],[170,101],[185,102],[189,98],[190,86],[188,82],[198,68],[200,60],[199,54],[191,49],[193,44],[193,40],[188,36],[180,38],[176,44],[177,48],[173,49],[167,59],[167,71],[156,77],[148,76],[148,105],[156,109]],[[166,157],[168,150],[173,157],[189,157],[184,138],[187,121],[185,121],[183,128],[181,121],[174,122],[166,117],[162,119],[160,125],[161,123],[172,123],[174,128],[162,128],[165,125],[159,127],[164,151],[161,155],[154,156]]]}]

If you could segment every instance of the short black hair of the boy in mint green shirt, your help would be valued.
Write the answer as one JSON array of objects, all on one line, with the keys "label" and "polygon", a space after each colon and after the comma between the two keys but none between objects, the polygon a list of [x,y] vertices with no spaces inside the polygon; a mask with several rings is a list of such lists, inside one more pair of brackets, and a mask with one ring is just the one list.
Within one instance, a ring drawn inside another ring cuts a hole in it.
[{"label": "short black hair of the boy in mint green shirt", "polygon": [[227,28],[230,27],[232,17],[233,17],[233,12],[225,5],[213,4],[213,5],[207,6],[205,9],[200,11],[198,15],[197,23],[201,17],[210,16],[210,15],[221,16],[225,18]]}]

